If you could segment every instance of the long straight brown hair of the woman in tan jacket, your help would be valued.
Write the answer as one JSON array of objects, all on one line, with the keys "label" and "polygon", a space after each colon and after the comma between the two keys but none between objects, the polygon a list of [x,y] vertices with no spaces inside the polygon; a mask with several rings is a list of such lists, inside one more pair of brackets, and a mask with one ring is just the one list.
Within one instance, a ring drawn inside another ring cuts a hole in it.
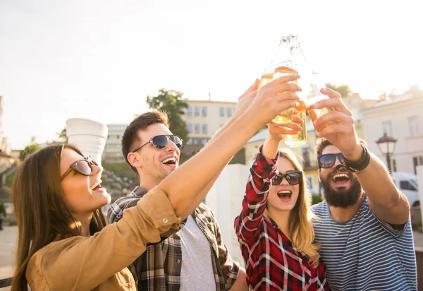
[{"label": "long straight brown hair of the woman in tan jacket", "polygon": [[[80,222],[73,218],[63,199],[60,161],[64,148],[82,155],[73,145],[49,145],[27,156],[13,180],[13,207],[18,223],[13,291],[27,290],[27,264],[39,249],[81,232]],[[91,234],[105,225],[102,210],[95,210],[90,223]]]}]

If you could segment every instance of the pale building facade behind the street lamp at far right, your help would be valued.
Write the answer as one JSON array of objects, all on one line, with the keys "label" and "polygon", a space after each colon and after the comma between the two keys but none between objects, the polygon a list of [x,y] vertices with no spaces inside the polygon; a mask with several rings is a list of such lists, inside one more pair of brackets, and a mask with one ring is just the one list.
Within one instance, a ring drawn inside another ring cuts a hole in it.
[{"label": "pale building facade behind the street lamp at far right", "polygon": [[396,172],[417,173],[423,165],[423,90],[413,86],[403,95],[390,96],[387,100],[361,110],[368,148],[386,164],[375,143],[384,133],[396,138],[391,156],[391,169]]}]

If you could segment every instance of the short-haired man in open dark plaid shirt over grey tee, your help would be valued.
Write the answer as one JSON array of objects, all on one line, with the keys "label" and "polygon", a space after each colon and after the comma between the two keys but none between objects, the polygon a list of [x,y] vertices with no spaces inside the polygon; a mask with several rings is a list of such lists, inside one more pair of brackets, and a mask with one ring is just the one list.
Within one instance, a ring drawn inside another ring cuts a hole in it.
[{"label": "short-haired man in open dark plaid shirt over grey tee", "polygon": [[[121,219],[125,209],[135,206],[149,189],[178,167],[181,145],[180,138],[168,129],[163,112],[146,112],[131,122],[123,133],[122,151],[139,175],[140,186],[109,208],[109,223]],[[208,192],[212,184],[203,191]],[[219,225],[203,203],[180,230],[162,234],[160,243],[149,245],[130,270],[138,290],[248,290],[245,270],[228,254]]]}]

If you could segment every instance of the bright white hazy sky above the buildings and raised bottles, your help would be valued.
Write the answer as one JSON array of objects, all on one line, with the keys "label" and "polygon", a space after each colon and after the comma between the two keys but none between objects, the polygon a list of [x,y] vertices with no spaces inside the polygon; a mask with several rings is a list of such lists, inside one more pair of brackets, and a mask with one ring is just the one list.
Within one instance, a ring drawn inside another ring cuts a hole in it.
[{"label": "bright white hazy sky above the buildings and raised bottles", "polygon": [[235,102],[298,35],[325,83],[366,99],[423,88],[419,1],[0,1],[3,131],[13,149],[66,120],[128,124],[147,95]]}]

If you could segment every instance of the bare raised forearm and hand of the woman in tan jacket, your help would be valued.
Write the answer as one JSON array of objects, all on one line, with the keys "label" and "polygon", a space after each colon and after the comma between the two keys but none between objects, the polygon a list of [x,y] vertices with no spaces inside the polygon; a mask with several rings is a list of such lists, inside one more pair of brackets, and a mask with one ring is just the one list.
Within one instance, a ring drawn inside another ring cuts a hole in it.
[{"label": "bare raised forearm and hand of the woman in tan jacket", "polygon": [[286,82],[296,78],[298,76],[283,76],[264,85],[252,105],[226,131],[159,184],[179,217],[186,218],[192,213],[197,201],[205,198],[201,190],[259,129],[279,112],[295,107],[298,101],[295,92],[299,87]]}]

